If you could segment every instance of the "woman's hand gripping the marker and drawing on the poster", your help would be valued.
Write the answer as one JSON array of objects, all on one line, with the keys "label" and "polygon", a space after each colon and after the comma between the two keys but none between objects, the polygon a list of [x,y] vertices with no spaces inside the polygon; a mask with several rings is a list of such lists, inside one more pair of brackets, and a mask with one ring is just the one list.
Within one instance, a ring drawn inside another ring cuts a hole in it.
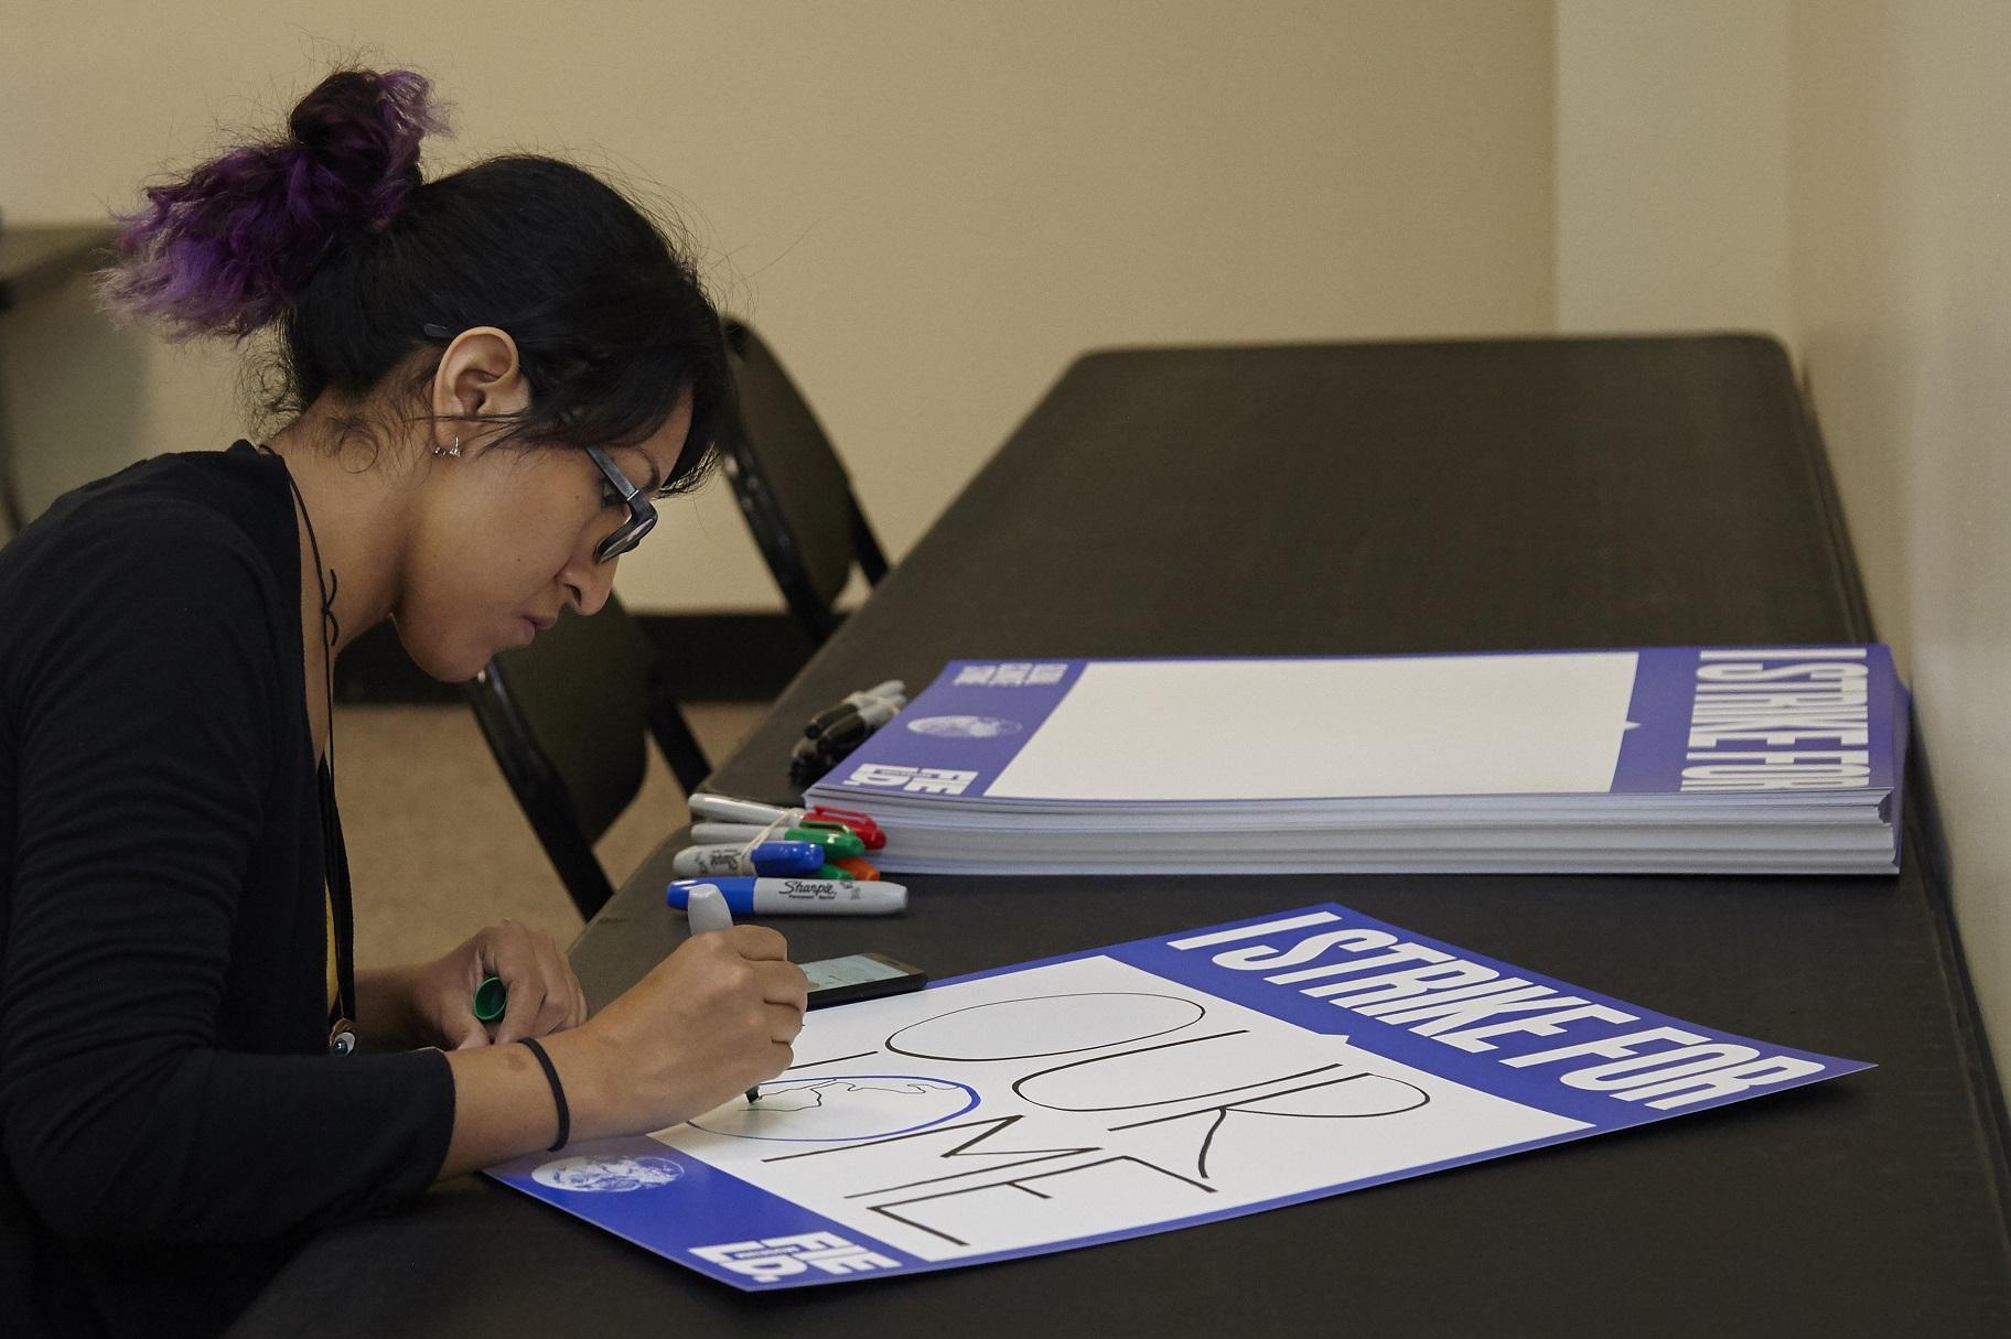
[{"label": "woman's hand gripping the marker and drawing on the poster", "polygon": [[[575,1029],[591,1074],[565,1074],[587,1102],[573,1138],[642,1134],[690,1120],[792,1062],[808,981],[764,925],[692,935]],[[557,1049],[557,1047],[555,1047]],[[591,1096],[589,1096],[591,1094]]]}]

